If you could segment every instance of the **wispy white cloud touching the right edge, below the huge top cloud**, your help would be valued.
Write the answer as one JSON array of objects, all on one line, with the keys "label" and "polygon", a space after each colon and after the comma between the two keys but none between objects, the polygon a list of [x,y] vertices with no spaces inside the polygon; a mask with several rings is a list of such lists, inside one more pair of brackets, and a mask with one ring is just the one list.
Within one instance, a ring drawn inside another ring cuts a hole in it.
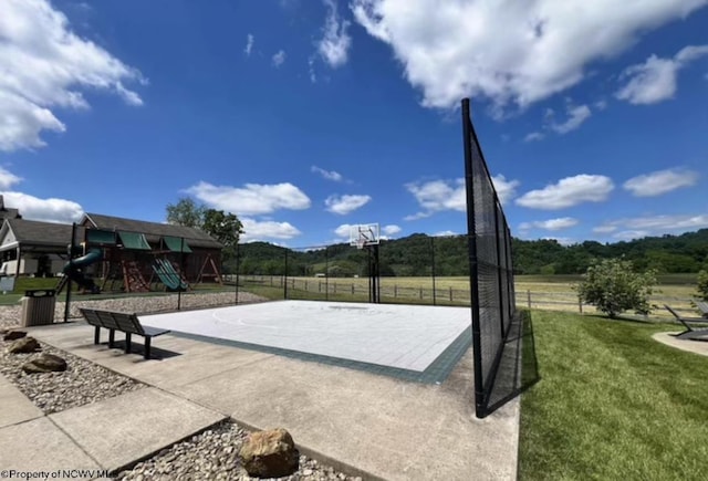
[{"label": "wispy white cloud touching the right edge, below the huge top cloud", "polygon": [[673,98],[676,94],[678,71],[702,55],[708,55],[708,45],[686,46],[673,59],[652,55],[646,62],[625,69],[621,77],[629,77],[629,81],[615,93],[615,96],[635,105],[655,104]]}]

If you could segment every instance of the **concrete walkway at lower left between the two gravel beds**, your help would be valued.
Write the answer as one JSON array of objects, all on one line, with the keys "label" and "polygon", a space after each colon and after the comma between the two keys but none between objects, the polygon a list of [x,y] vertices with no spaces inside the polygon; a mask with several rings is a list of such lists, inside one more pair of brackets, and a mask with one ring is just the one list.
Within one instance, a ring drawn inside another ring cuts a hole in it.
[{"label": "concrete walkway at lower left between the two gravel beds", "polygon": [[44,416],[4,376],[0,402],[0,468],[33,473],[119,470],[225,418],[154,387]]}]

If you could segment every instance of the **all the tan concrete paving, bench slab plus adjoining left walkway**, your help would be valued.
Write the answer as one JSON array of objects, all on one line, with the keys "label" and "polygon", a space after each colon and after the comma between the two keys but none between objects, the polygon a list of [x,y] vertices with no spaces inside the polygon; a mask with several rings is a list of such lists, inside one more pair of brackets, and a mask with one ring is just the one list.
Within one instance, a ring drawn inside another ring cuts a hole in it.
[{"label": "all the tan concrete paving, bench slab plus adjoining left walkway", "polygon": [[[28,331],[152,387],[48,417],[22,407],[17,420],[3,421],[0,453],[18,438],[25,442],[12,448],[11,460],[0,454],[2,467],[21,460],[24,470],[56,469],[73,460],[115,469],[231,417],[253,429],[284,427],[301,452],[366,479],[516,479],[519,401],[475,417],[471,349],[445,383],[425,385],[171,335],[155,339],[167,353],[163,360],[146,362],[93,345],[93,328],[83,323]],[[81,456],[52,458],[51,446],[32,441],[49,442],[44,429]]]}]

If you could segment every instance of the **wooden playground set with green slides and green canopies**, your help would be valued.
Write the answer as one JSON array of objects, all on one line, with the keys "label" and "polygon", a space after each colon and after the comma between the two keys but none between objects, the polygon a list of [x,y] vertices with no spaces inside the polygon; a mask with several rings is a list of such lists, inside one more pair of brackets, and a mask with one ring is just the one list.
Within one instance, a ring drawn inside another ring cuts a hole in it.
[{"label": "wooden playground set with green slides and green canopies", "polygon": [[215,253],[192,250],[189,239],[92,228],[82,231],[73,250],[80,255],[64,266],[58,292],[67,280],[90,293],[184,292],[192,283],[222,282]]}]

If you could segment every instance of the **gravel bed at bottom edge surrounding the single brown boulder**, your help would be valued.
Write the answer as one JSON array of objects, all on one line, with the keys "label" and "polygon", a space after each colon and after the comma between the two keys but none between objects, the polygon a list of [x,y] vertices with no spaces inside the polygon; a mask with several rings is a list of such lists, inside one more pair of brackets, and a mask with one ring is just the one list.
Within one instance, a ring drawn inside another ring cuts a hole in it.
[{"label": "gravel bed at bottom edge surrounding the single brown boulder", "polygon": [[[238,461],[238,453],[248,431],[226,421],[160,451],[129,471],[118,473],[124,481],[139,480],[257,480],[249,477]],[[295,440],[296,443],[296,440]],[[335,471],[305,456],[300,457],[300,469],[283,481],[361,481]]]}]

